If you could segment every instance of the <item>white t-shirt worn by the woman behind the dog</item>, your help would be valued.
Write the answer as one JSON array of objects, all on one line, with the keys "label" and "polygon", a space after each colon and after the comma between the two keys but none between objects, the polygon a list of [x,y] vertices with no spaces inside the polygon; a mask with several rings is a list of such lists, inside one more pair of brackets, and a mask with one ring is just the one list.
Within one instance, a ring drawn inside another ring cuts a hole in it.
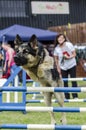
[{"label": "white t-shirt worn by the woman behind the dog", "polygon": [[72,52],[75,50],[74,46],[71,42],[65,42],[65,45],[61,48],[59,45],[57,45],[54,49],[54,56],[58,56],[59,58],[59,64],[60,68],[62,70],[68,70],[72,68],[73,66],[76,66],[76,59],[63,59],[63,55],[72,55]]}]

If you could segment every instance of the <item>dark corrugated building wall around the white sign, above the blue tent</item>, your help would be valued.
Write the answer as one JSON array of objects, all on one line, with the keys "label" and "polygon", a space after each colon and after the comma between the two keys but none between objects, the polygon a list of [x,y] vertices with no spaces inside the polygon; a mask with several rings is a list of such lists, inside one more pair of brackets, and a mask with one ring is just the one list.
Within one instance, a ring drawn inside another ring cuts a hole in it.
[{"label": "dark corrugated building wall around the white sign, above the blue tent", "polygon": [[70,14],[32,15],[31,0],[0,0],[0,29],[13,24],[47,29],[51,26],[86,22],[86,0],[54,1],[69,2]]}]

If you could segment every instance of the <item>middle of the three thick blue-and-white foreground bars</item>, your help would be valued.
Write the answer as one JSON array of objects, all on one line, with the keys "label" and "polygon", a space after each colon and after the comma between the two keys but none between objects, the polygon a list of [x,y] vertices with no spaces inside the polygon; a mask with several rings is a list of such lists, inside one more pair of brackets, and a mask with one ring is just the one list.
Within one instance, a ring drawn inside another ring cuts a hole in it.
[{"label": "middle of the three thick blue-and-white foreground bars", "polygon": [[26,112],[86,112],[86,107],[31,107],[31,106],[0,106],[0,111],[26,111]]}]

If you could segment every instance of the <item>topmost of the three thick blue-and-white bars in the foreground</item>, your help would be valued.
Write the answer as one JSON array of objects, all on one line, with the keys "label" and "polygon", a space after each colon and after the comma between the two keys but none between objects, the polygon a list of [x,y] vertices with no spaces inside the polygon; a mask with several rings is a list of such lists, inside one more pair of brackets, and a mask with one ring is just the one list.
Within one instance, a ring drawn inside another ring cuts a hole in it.
[{"label": "topmost of the three thick blue-and-white bars in the foreground", "polygon": [[86,92],[85,87],[0,87],[0,91],[18,92]]}]

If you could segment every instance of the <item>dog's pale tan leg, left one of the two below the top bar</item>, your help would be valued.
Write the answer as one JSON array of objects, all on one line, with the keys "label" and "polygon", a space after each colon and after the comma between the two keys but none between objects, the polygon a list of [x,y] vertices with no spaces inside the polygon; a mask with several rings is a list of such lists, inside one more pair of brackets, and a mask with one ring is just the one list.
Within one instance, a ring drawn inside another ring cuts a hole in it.
[{"label": "dog's pale tan leg, left one of the two below the top bar", "polygon": [[[52,93],[44,92],[44,101],[47,106],[51,106]],[[49,112],[51,117],[51,124],[56,124],[54,112]]]}]

